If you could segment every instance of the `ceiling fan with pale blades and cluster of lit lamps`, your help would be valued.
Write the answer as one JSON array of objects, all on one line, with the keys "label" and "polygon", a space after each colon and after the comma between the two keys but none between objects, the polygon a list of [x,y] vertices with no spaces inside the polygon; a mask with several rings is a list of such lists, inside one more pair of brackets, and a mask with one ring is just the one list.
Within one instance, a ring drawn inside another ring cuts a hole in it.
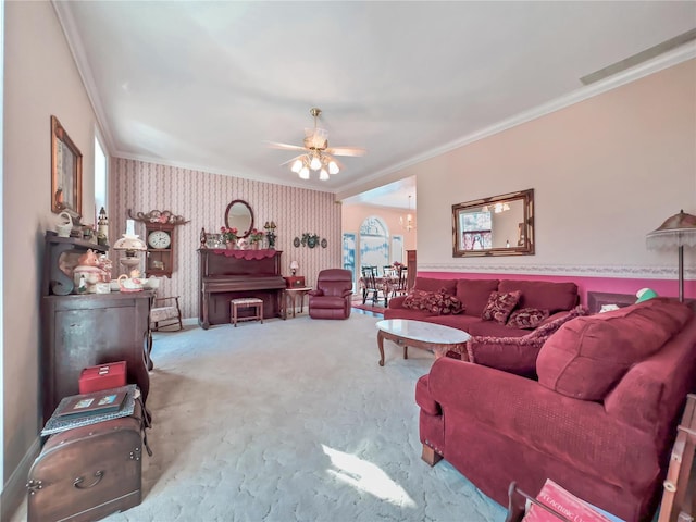
[{"label": "ceiling fan with pale blades and cluster of lit lamps", "polygon": [[338,174],[343,165],[334,156],[363,156],[366,151],[360,147],[328,147],[328,132],[316,126],[321,109],[313,107],[309,113],[314,117],[314,128],[304,129],[304,145],[288,145],[269,141],[269,146],[281,150],[301,150],[297,156],[282,165],[290,163],[290,171],[302,179],[309,179],[310,171],[319,171],[320,179],[328,179],[330,174]]}]

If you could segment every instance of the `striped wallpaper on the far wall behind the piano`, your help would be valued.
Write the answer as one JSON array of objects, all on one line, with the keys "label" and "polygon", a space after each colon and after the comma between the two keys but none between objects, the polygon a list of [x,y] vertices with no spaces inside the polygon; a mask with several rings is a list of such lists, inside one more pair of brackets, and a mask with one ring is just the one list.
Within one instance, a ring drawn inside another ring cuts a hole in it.
[{"label": "striped wallpaper on the far wall behind the piano", "polygon": [[[198,253],[200,232],[220,232],[224,214],[233,199],[243,199],[253,210],[256,227],[266,221],[277,225],[277,250],[283,251],[283,275],[289,275],[290,261],[299,263],[297,275],[303,275],[308,286],[326,268],[339,268],[341,262],[340,204],[332,192],[275,185],[221,174],[192,171],[137,160],[112,158],[109,173],[109,243],[125,232],[128,209],[137,212],[169,210],[188,223],[174,232],[176,258],[172,278],[160,281],[159,296],[181,296],[184,318],[198,318]],[[145,225],[136,222],[136,234],[145,236]],[[316,234],[326,239],[315,248],[294,246],[303,234]],[[114,277],[117,254],[111,252]],[[141,266],[145,270],[145,265]]]}]

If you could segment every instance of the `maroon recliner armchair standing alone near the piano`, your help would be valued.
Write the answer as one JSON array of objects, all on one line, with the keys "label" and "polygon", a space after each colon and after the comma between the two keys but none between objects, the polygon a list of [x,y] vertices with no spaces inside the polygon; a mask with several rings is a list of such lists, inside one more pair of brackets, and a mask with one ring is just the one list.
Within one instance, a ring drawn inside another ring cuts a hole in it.
[{"label": "maroon recliner armchair standing alone near the piano", "polygon": [[349,270],[322,270],[316,277],[316,288],[309,291],[309,316],[348,319],[350,296],[352,296],[352,273]]}]

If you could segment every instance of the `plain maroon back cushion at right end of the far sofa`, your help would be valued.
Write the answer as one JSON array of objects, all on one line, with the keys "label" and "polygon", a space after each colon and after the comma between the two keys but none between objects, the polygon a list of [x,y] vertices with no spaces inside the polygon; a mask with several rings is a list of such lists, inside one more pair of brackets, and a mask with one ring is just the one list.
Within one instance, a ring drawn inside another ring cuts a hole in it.
[{"label": "plain maroon back cushion at right end of the far sofa", "polygon": [[550,313],[570,310],[577,304],[577,285],[575,283],[552,283],[548,281],[502,279],[498,291],[522,293],[520,308],[538,308]]}]

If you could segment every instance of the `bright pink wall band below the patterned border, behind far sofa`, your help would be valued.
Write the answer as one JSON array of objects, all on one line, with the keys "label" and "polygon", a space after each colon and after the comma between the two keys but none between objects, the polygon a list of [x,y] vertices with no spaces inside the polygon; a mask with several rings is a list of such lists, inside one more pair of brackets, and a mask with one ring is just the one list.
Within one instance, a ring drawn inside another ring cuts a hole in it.
[{"label": "bright pink wall band below the patterned border, behind far sofa", "polygon": [[[587,303],[588,291],[605,291],[609,294],[635,295],[641,288],[652,288],[659,296],[676,297],[679,295],[679,282],[668,279],[646,278],[618,278],[618,277],[585,277],[570,275],[524,275],[524,274],[481,274],[481,273],[451,273],[451,272],[420,272],[421,277],[435,277],[438,279],[469,278],[469,279],[527,279],[572,282],[577,285],[581,303]],[[696,281],[684,282],[684,298],[696,298]]]}]

